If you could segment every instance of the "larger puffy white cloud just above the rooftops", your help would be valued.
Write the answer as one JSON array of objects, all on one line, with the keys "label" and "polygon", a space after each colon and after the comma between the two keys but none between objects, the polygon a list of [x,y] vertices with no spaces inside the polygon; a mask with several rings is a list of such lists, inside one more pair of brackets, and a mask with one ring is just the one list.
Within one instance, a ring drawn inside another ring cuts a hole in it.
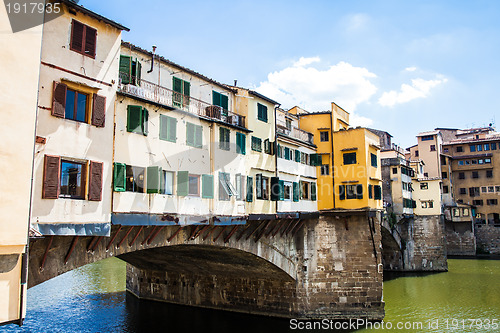
[{"label": "larger puffy white cloud just above the rooftops", "polygon": [[292,66],[268,74],[255,90],[280,102],[283,108],[297,105],[308,111],[324,111],[335,102],[350,113],[377,91],[370,81],[376,75],[368,69],[346,62],[324,70],[311,66],[320,62],[319,57],[300,58]]}]

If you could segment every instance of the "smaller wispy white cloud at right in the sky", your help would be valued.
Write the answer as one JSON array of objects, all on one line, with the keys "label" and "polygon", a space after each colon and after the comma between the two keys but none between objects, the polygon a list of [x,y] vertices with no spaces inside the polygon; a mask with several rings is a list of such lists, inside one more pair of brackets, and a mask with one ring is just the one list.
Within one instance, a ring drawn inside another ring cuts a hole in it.
[{"label": "smaller wispy white cloud at right in the sky", "polygon": [[403,83],[399,92],[396,90],[384,92],[379,98],[378,103],[382,106],[394,106],[417,98],[426,98],[429,96],[432,88],[447,81],[448,79],[446,78],[435,80],[413,79],[411,80],[411,85]]}]

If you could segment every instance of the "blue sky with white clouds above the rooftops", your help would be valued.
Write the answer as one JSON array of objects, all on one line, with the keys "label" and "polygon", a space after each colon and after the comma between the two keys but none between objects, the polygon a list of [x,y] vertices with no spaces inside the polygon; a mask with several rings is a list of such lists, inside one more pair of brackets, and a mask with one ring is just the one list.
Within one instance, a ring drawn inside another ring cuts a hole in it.
[{"label": "blue sky with white clouds above the rooftops", "polygon": [[435,127],[500,122],[500,1],[131,1],[80,4],[123,39],[284,108],[351,113],[403,147]]}]

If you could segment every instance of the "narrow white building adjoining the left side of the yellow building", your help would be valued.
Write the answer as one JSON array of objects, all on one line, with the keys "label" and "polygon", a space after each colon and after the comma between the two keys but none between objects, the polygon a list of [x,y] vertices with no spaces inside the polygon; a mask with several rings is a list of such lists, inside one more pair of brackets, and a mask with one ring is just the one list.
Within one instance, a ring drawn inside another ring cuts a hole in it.
[{"label": "narrow white building adjoining the left side of the yellow building", "polygon": [[[316,212],[316,145],[312,133],[300,129],[299,117],[281,108],[276,112],[277,168],[279,179],[278,213]],[[331,172],[329,165],[322,174]]]}]

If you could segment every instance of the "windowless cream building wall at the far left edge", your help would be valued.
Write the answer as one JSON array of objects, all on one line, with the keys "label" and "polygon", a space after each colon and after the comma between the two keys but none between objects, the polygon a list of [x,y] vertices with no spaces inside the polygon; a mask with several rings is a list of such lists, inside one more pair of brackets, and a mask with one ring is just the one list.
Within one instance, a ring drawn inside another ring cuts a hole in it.
[{"label": "windowless cream building wall at the far left edge", "polygon": [[[42,26],[13,33],[0,6],[0,324],[25,316],[27,240]],[[14,186],[15,185],[15,186]],[[25,259],[25,260],[23,260]]]}]

